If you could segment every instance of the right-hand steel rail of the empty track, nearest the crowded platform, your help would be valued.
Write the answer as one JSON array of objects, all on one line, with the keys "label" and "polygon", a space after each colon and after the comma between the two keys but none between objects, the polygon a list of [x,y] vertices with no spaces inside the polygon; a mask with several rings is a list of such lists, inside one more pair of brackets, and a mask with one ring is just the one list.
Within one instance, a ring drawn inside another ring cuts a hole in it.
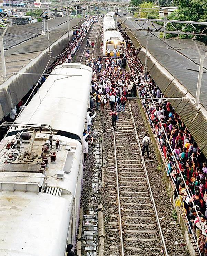
[{"label": "right-hand steel rail of the empty track, nearest the crowded platform", "polygon": [[[129,103],[129,100],[128,100],[128,103]],[[140,151],[140,157],[141,157],[141,160],[142,160],[142,165],[143,165],[144,170],[145,170],[145,175],[146,175],[147,184],[148,184],[148,188],[149,188],[149,193],[150,193],[150,197],[151,197],[151,201],[152,201],[152,206],[154,208],[154,212],[155,212],[155,216],[156,216],[156,221],[157,221],[157,225],[158,225],[158,228],[159,228],[159,233],[160,233],[160,237],[161,237],[161,243],[162,243],[162,246],[164,248],[165,256],[168,256],[168,252],[167,252],[167,248],[166,248],[166,244],[165,244],[165,239],[164,239],[164,236],[163,236],[163,233],[162,233],[162,229],[161,229],[161,225],[160,225],[160,221],[159,221],[159,216],[158,216],[158,213],[157,213],[157,208],[156,208],[156,205],[155,205],[155,200],[154,200],[152,189],[151,189],[151,185],[150,185],[150,181],[149,181],[149,177],[148,177],[148,173],[147,173],[147,168],[146,168],[146,165],[145,165],[145,160],[144,160],[144,157],[142,157],[141,144],[140,144],[140,141],[139,141],[139,137],[138,137],[138,133],[137,133],[137,128],[136,128],[134,117],[133,117],[133,114],[132,114],[132,111],[131,111],[130,103],[129,103],[129,110],[130,110],[130,113],[131,113],[131,119],[132,119],[132,122],[133,122],[133,125],[134,125],[136,139],[137,139],[138,146],[139,146],[139,151]]]}]

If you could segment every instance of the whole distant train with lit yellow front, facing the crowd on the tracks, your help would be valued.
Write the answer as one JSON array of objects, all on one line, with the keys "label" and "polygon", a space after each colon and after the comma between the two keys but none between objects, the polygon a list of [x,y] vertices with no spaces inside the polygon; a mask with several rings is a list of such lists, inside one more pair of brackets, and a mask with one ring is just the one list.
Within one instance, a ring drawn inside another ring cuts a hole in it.
[{"label": "whole distant train with lit yellow front, facing the crowd on the tracks", "polygon": [[[115,12],[108,12],[103,18],[103,57],[107,57],[107,49],[110,50],[110,56],[114,56],[113,50],[116,48],[126,49],[127,45],[121,32],[115,29]],[[119,52],[117,56],[120,57]]]}]

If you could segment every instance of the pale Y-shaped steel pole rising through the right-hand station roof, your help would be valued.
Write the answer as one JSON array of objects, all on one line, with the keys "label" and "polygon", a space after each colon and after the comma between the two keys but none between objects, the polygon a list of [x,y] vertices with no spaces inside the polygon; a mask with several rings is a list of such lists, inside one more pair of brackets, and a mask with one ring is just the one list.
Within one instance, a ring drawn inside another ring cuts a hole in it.
[{"label": "pale Y-shaped steel pole rising through the right-hand station roof", "polygon": [[200,56],[200,66],[199,66],[199,72],[198,72],[198,81],[197,81],[197,88],[196,88],[196,100],[195,100],[195,106],[198,107],[199,105],[199,98],[200,98],[200,89],[201,89],[201,82],[202,82],[202,76],[203,76],[203,70],[204,70],[204,60],[207,56],[207,52],[202,55],[200,53],[200,50],[198,48],[198,45],[196,44],[195,37],[193,38],[195,47],[198,51],[198,54]]}]

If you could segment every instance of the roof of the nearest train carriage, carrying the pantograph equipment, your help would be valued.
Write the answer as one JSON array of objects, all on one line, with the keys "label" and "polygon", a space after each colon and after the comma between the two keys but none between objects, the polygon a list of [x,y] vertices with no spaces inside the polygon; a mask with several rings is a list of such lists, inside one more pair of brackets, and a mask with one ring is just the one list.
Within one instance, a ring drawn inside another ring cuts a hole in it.
[{"label": "roof of the nearest train carriage, carrying the pantograph equipment", "polygon": [[[0,164],[0,255],[65,255],[73,201],[81,192],[77,189],[77,183],[81,182],[78,174],[81,171],[82,146],[77,140],[53,136],[53,140],[58,138],[61,141],[59,149],[55,149],[53,141],[52,149],[44,155],[49,156],[51,151],[56,151],[56,161],[49,160],[46,170],[42,172],[41,165],[36,161],[42,145],[49,139],[49,134],[45,136],[44,133],[36,134],[32,150],[38,155],[34,157],[33,164],[28,161],[21,164],[18,158]],[[3,140],[3,143],[6,145],[7,141]],[[22,140],[20,153],[27,151],[28,147],[28,141]],[[71,149],[68,150],[68,147]],[[67,169],[67,173],[63,171],[63,178],[58,179],[57,174],[64,169]],[[45,189],[43,182],[47,183]]]}]

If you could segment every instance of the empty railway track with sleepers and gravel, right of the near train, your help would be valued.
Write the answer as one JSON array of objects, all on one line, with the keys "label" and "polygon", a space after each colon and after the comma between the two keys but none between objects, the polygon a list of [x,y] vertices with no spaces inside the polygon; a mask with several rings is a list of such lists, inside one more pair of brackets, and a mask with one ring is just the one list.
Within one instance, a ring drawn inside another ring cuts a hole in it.
[{"label": "empty railway track with sleepers and gravel, right of the near train", "polygon": [[126,111],[119,113],[116,129],[109,133],[113,143],[107,156],[106,249],[111,256],[168,255],[129,102]]}]

